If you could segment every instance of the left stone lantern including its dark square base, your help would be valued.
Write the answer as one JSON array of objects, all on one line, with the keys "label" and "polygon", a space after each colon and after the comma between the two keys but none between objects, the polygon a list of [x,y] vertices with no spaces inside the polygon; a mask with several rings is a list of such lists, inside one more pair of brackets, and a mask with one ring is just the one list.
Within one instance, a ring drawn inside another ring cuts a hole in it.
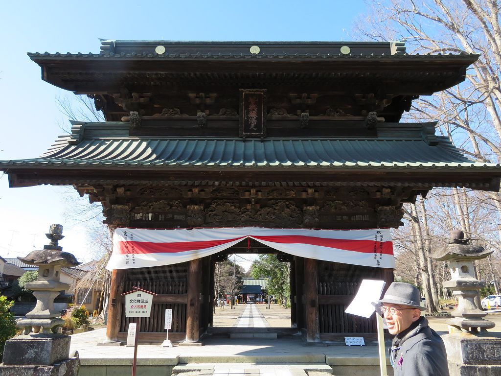
[{"label": "left stone lantern including its dark square base", "polygon": [[23,334],[6,341],[0,376],[76,376],[78,373],[78,355],[69,358],[71,338],[57,333],[58,327],[64,325],[64,320],[54,308],[54,298],[70,287],[60,281],[61,268],[80,265],[75,256],[63,252],[58,245],[58,241],[64,238],[62,232],[63,226],[51,225],[49,234],[46,234],[51,242],[43,250],[18,257],[26,264],[39,267],[37,280],[25,285],[33,290],[37,304],[33,311],[26,314],[26,319],[16,322],[23,329]]}]

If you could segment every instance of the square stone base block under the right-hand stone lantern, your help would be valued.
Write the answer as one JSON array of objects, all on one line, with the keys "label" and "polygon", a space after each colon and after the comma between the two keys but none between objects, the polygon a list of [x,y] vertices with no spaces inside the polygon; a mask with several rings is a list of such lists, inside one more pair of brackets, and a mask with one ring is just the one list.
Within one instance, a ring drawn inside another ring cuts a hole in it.
[{"label": "square stone base block under the right-hand stone lantern", "polygon": [[460,332],[442,335],[442,339],[450,376],[501,374],[501,336],[498,333]]}]

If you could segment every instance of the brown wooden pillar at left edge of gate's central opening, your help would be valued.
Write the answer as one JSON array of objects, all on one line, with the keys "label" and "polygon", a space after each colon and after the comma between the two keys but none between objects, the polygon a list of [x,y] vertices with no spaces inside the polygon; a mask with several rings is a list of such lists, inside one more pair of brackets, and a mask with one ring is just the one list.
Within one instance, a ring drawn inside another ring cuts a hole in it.
[{"label": "brown wooden pillar at left edge of gate's central opening", "polygon": [[192,260],[188,264],[188,301],[186,306],[185,342],[198,342],[200,327],[200,281],[201,260]]}]

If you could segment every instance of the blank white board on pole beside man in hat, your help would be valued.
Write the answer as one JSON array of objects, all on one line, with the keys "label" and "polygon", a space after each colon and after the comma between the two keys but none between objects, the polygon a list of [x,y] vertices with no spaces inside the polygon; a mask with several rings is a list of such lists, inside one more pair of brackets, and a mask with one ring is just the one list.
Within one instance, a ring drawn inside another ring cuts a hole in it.
[{"label": "blank white board on pole beside man in hat", "polygon": [[[369,279],[362,280],[357,295],[346,308],[345,313],[369,318],[376,311],[372,302],[381,298],[386,282]],[[376,313],[379,345],[379,371],[381,376],[388,376],[386,371],[386,351],[384,347],[383,318]],[[346,340],[346,339],[345,339]],[[348,344],[348,343],[347,343]]]}]

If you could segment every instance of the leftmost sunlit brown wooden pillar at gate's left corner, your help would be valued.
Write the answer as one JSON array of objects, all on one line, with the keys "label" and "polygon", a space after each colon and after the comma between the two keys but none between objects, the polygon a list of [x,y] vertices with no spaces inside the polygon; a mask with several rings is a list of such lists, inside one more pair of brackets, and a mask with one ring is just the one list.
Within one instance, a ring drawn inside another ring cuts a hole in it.
[{"label": "leftmost sunlit brown wooden pillar at gate's left corner", "polygon": [[122,293],[124,292],[125,269],[113,269],[111,272],[110,300],[108,304],[108,324],[106,342],[117,343],[120,319],[122,316]]}]

